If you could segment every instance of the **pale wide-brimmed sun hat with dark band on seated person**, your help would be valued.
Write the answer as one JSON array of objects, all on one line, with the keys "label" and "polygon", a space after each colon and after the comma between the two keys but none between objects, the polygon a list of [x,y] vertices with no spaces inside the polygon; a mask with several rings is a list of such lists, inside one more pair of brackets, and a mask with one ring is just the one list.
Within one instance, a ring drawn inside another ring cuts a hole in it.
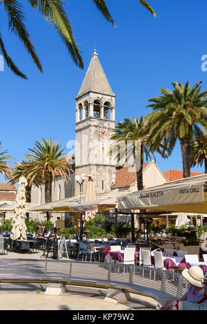
[{"label": "pale wide-brimmed sun hat with dark band on seated person", "polygon": [[190,269],[184,269],[182,271],[182,276],[184,276],[184,278],[186,278],[191,285],[196,287],[204,287],[204,272],[197,265],[193,265],[193,267],[190,267]]}]

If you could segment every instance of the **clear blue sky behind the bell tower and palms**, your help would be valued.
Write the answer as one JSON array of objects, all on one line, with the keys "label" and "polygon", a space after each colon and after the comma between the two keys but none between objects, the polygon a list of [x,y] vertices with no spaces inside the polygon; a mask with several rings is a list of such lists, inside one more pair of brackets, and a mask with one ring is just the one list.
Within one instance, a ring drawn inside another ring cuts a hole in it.
[{"label": "clear blue sky behind the bell tower and palms", "polygon": [[[66,0],[66,12],[74,27],[85,69],[75,66],[55,30],[38,12],[22,1],[27,26],[43,66],[34,65],[23,44],[7,30],[1,9],[0,31],[8,53],[26,73],[28,81],[6,66],[1,80],[1,136],[3,149],[14,161],[23,160],[35,140],[59,140],[66,147],[75,139],[75,97],[90,63],[96,43],[99,60],[116,94],[116,121],[146,115],[148,99],[172,82],[193,86],[207,71],[201,56],[207,54],[206,0],[149,0],[157,18],[138,0],[107,0],[117,28],[108,23],[91,0]],[[68,150],[66,150],[68,152]],[[157,155],[161,171],[182,169],[179,145],[168,160]],[[194,168],[204,171],[204,166]],[[2,178],[0,178],[2,181]],[[3,180],[4,181],[4,180]]]}]

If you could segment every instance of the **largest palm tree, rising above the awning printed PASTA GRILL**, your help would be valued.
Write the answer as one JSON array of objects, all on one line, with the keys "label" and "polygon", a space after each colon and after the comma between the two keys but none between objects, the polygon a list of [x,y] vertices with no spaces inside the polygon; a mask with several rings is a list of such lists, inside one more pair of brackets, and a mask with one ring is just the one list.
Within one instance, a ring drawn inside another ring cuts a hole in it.
[{"label": "largest palm tree, rising above the awning printed PASTA GRILL", "polygon": [[161,96],[149,99],[147,107],[152,111],[146,116],[146,127],[150,136],[148,140],[152,149],[156,149],[160,142],[165,143],[164,151],[172,153],[177,139],[181,146],[184,178],[190,177],[191,140],[195,126],[207,130],[207,90],[200,92],[201,82],[190,88],[189,82],[185,86],[172,83],[174,90],[161,88]]}]

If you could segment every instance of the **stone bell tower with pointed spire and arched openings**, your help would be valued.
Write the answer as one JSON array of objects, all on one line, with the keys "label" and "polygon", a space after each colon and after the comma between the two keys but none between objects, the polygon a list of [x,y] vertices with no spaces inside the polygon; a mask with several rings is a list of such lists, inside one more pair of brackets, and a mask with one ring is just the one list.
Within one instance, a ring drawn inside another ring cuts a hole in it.
[{"label": "stone bell tower with pointed spire and arched openings", "polygon": [[[112,92],[97,51],[76,99],[75,175],[91,175],[95,192],[110,191],[116,167],[110,157],[110,135],[115,128],[115,93]],[[85,183],[86,182],[86,183]],[[83,183],[83,192],[87,181]],[[79,187],[75,184],[75,195]]]}]

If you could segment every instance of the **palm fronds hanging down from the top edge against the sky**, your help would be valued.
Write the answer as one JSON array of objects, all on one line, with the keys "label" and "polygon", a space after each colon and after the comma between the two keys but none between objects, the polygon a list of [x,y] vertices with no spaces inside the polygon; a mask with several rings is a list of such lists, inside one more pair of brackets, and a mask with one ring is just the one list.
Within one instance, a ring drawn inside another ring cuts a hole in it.
[{"label": "palm fronds hanging down from the top edge against the sky", "polygon": [[[101,12],[101,15],[112,23],[115,26],[115,22],[113,21],[109,11],[106,1],[104,0],[92,0],[95,3],[95,6]],[[63,44],[65,44],[70,57],[75,62],[79,68],[83,68],[83,60],[81,57],[81,53],[77,46],[77,42],[75,41],[75,37],[72,32],[72,26],[70,23],[70,19],[64,10],[66,6],[65,1],[63,0],[28,0],[32,8],[38,10],[39,13],[47,20],[52,26],[55,28],[59,37],[61,37]],[[154,10],[150,7],[149,3],[145,0],[139,0],[139,2],[149,10],[152,15],[156,16]],[[36,64],[37,68],[42,72],[41,63],[39,61],[39,57],[35,52],[34,45],[32,41],[30,41],[30,35],[25,25],[26,14],[23,12],[23,6],[17,0],[1,0],[0,5],[4,7],[8,15],[8,28],[11,32],[14,32],[19,39],[23,42],[23,45],[28,50],[29,55],[31,55],[34,64]],[[0,34],[0,50],[3,54],[4,59],[6,60],[6,64],[12,70],[13,73],[18,75],[19,77],[23,77],[23,79],[27,79],[26,75],[24,75],[19,68],[14,64],[8,52],[3,44],[3,39]]]}]

